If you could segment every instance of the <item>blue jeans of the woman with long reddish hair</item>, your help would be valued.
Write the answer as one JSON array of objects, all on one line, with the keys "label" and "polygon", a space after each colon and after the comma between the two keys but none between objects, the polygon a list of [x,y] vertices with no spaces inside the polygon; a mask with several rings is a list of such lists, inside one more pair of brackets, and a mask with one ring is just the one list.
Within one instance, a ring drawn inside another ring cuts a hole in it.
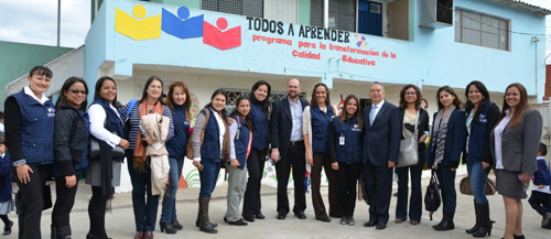
[{"label": "blue jeans of the woman with long reddish hair", "polygon": [[169,171],[169,195],[163,198],[163,209],[161,213],[161,222],[168,224],[176,220],[176,192],[182,176],[184,159],[176,160],[169,157],[171,170]]}]

